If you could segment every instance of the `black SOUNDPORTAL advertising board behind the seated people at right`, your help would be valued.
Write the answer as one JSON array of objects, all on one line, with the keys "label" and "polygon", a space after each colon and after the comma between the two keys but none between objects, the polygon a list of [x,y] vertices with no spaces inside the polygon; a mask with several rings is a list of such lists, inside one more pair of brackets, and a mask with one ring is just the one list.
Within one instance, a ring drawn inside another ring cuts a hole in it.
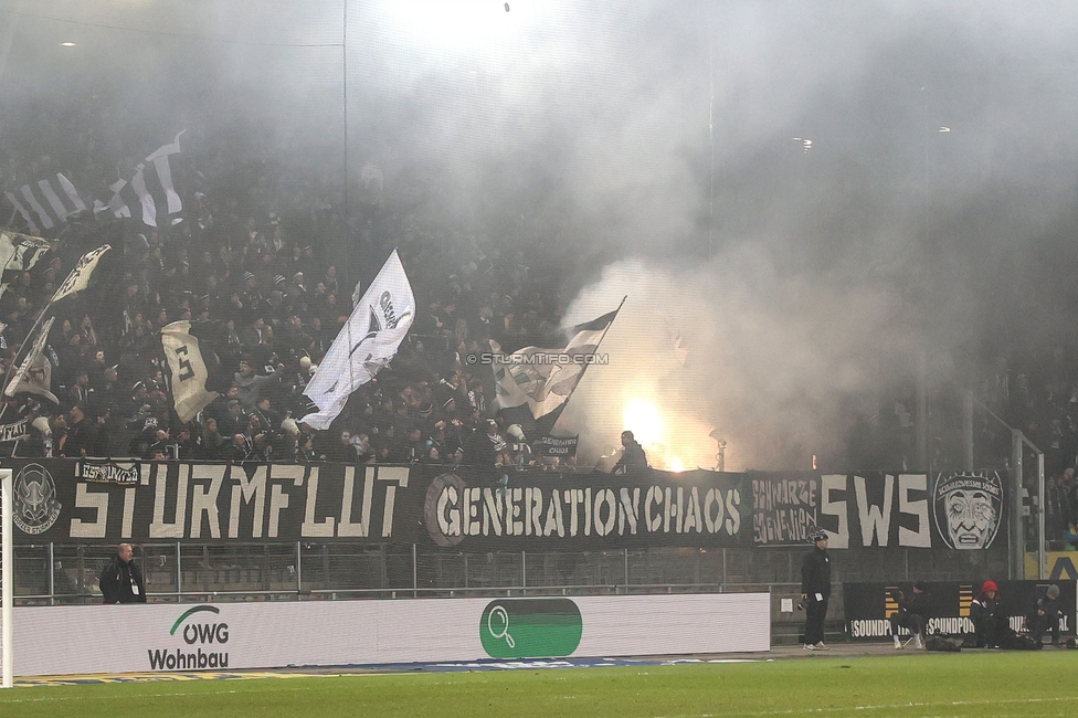
[{"label": "black SOUNDPORTAL advertising board behind the seated people at right", "polygon": [[[1059,631],[1075,633],[1075,581],[997,581],[1000,605],[1011,616],[1011,626],[1021,631],[1026,613],[1043,596],[1049,585],[1059,587],[1059,603],[1063,616]],[[970,605],[981,588],[980,582],[961,583],[957,581],[927,583],[928,631],[951,634],[973,633]],[[852,638],[883,638],[891,635],[888,617],[898,612],[896,592],[909,595],[912,583],[844,583],[843,605],[846,630]],[[909,632],[902,630],[903,634]]]}]

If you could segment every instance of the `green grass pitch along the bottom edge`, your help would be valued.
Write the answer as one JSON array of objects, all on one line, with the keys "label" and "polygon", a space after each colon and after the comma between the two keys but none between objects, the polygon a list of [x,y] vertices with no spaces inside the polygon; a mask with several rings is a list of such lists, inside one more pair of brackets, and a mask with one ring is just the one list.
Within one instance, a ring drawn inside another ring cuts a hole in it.
[{"label": "green grass pitch along the bottom edge", "polygon": [[0,716],[1074,716],[1078,652],[17,687]]}]

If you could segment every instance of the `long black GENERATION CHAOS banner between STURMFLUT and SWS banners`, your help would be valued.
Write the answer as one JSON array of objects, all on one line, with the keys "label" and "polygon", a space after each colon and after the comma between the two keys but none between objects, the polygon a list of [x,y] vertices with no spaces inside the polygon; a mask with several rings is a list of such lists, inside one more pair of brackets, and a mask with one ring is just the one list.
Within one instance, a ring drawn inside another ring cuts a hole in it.
[{"label": "long black GENERATION CHAOS banner between STURMFLUT and SWS banners", "polygon": [[739,474],[635,475],[521,472],[505,490],[443,473],[423,482],[426,538],[436,546],[602,549],[748,545]]}]

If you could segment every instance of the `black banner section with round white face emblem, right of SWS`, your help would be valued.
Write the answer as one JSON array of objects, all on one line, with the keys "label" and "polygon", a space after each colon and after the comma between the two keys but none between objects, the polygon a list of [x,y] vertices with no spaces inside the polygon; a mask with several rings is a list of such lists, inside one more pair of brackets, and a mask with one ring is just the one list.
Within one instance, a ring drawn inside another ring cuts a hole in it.
[{"label": "black banner section with round white face emblem, right of SWS", "polygon": [[932,507],[939,535],[949,548],[987,548],[1000,530],[1003,479],[995,472],[940,474]]}]

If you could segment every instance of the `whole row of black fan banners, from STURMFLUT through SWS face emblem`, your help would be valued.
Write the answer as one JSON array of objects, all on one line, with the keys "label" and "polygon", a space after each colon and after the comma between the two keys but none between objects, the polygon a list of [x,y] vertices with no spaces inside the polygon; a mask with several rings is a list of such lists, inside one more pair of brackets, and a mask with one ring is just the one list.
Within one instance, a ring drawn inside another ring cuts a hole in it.
[{"label": "whole row of black fan banners, from STURMFLUT through SWS face emblem", "polygon": [[996,474],[522,471],[511,472],[501,489],[468,467],[426,465],[49,458],[2,466],[14,472],[15,541],[23,543],[359,540],[478,551],[765,549],[803,546],[808,527],[821,526],[833,549],[964,549],[992,546],[1002,524]]}]

